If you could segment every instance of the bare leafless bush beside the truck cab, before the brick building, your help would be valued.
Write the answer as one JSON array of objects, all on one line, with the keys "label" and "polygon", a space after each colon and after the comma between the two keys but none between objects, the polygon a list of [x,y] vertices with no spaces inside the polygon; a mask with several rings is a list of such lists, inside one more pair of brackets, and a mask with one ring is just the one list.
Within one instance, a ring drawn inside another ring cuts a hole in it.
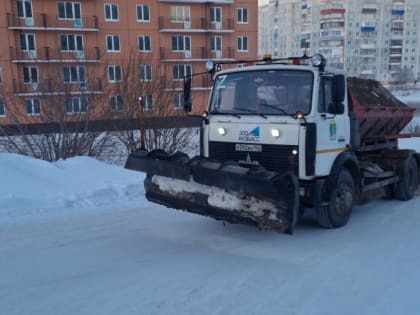
[{"label": "bare leafless bush beside the truck cab, before the brick building", "polygon": [[[182,118],[186,114],[182,106],[174,106],[174,102],[182,105],[182,78],[174,81],[173,69],[167,64],[151,65],[151,59],[133,48],[119,65],[121,81],[107,86],[105,94],[117,137],[128,153],[140,147],[141,129],[145,130],[147,150],[188,150],[194,130],[184,128]],[[109,65],[105,70],[113,71]]]}]

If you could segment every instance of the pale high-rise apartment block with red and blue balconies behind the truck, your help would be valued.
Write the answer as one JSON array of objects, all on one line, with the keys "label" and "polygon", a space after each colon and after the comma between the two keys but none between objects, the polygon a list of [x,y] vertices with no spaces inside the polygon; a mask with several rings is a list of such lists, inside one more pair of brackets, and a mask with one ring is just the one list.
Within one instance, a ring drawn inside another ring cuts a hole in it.
[{"label": "pale high-rise apartment block with red and blue balconies behind the truck", "polygon": [[[279,18],[285,13],[289,19],[297,17],[295,23]],[[384,82],[420,78],[420,1],[273,0],[260,7],[260,15],[266,23],[265,28],[260,25],[260,54],[320,52],[329,65],[352,75]],[[276,29],[291,34],[283,37],[290,42],[275,47],[265,44]]]}]

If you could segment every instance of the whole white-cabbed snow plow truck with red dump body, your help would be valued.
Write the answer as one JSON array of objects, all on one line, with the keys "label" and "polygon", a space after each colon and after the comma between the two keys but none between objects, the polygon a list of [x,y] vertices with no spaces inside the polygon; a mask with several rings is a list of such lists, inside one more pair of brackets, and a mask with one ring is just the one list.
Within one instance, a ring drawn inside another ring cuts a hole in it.
[{"label": "whole white-cabbed snow plow truck with red dump body", "polygon": [[147,173],[149,201],[292,233],[308,208],[322,227],[338,228],[371,191],[413,198],[420,154],[399,149],[398,138],[412,136],[400,132],[415,110],[379,82],[329,69],[319,54],[222,67],[206,63],[213,84],[199,156],[129,155],[125,167]]}]

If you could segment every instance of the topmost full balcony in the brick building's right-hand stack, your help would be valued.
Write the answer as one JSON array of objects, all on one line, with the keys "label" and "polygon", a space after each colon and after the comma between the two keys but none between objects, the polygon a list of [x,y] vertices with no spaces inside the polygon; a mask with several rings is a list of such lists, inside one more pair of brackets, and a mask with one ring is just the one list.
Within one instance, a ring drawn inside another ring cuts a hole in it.
[{"label": "topmost full balcony in the brick building's right-hand stack", "polygon": [[190,18],[184,21],[174,21],[170,17],[159,17],[161,32],[233,32],[233,19],[223,19],[221,22],[211,22],[206,18]]}]

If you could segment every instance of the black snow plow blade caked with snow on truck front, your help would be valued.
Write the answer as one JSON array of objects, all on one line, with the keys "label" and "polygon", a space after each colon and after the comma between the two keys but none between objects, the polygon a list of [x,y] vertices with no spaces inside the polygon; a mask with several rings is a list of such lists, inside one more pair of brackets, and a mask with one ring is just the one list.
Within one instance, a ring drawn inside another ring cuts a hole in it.
[{"label": "black snow plow blade caked with snow on truck front", "polygon": [[146,198],[169,208],[289,234],[298,219],[298,181],[289,172],[161,150],[137,150],[125,168],[147,173]]}]

